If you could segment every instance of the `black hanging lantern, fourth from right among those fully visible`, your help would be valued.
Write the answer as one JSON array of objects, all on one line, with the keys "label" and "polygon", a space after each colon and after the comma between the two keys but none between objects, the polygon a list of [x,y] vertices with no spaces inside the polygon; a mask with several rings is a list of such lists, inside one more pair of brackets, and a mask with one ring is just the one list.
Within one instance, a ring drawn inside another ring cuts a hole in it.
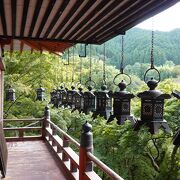
[{"label": "black hanging lantern, fourth from right among those fully visible", "polygon": [[83,112],[85,114],[89,114],[90,112],[94,112],[96,110],[96,96],[92,91],[92,87],[88,86],[88,90],[84,92],[84,108]]}]

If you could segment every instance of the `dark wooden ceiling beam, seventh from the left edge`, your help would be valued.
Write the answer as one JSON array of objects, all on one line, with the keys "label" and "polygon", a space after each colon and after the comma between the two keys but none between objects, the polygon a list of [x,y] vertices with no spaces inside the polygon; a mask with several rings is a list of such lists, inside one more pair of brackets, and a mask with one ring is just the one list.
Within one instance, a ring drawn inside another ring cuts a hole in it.
[{"label": "dark wooden ceiling beam, seventh from the left edge", "polygon": [[70,18],[74,15],[74,13],[78,10],[78,8],[80,7],[80,5],[84,2],[84,0],[78,0],[76,1],[76,3],[74,4],[74,6],[71,8],[71,10],[69,11],[69,13],[66,15],[66,17],[62,20],[62,22],[58,25],[58,27],[56,28],[55,32],[53,33],[53,35],[51,36],[51,38],[55,38],[56,35],[59,33],[59,31],[61,30],[62,27],[64,27],[64,25],[70,20]]}]

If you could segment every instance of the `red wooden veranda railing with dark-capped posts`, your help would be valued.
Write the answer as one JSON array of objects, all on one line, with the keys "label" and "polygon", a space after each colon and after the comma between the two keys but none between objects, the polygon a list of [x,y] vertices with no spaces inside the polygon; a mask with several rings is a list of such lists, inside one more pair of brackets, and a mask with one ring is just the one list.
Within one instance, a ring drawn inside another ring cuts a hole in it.
[{"label": "red wooden veranda railing with dark-capped posts", "polygon": [[[34,122],[31,124],[40,123],[40,126],[36,127],[8,127],[4,128],[6,131],[18,131],[17,137],[7,137],[8,141],[16,140],[36,140],[43,139],[46,141],[48,146],[54,152],[54,155],[59,159],[59,163],[64,168],[65,172],[70,176],[71,179],[79,180],[100,180],[101,178],[93,170],[95,165],[106,173],[110,179],[122,180],[122,178],[116,174],[112,169],[101,162],[95,157],[93,152],[93,139],[91,133],[91,125],[85,123],[82,127],[81,140],[78,143],[65,131],[60,129],[56,124],[50,120],[50,110],[48,107],[45,109],[45,116],[41,119],[14,119],[5,120],[6,122]],[[37,123],[36,123],[37,122]],[[30,125],[31,125],[30,124]],[[28,130],[39,131],[38,136],[24,136]]]}]

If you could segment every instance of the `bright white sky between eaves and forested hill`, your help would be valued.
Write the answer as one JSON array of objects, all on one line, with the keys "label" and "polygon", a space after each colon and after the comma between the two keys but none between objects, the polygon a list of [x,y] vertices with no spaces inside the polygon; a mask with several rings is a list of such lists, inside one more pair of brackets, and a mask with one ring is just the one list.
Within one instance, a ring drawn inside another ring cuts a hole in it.
[{"label": "bright white sky between eaves and forested hill", "polygon": [[[153,29],[159,31],[171,31],[175,28],[180,28],[180,3],[154,16],[153,24]],[[136,27],[152,30],[152,18]]]}]

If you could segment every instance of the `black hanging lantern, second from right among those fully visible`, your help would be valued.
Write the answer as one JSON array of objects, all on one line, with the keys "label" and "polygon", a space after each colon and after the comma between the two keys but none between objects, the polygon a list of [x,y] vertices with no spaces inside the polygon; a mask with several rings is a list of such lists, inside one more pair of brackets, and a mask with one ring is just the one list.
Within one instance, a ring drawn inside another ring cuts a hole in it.
[{"label": "black hanging lantern, second from right among those fully visible", "polygon": [[[131,78],[130,78],[129,84],[131,84]],[[110,116],[107,123],[113,121],[116,118],[117,123],[119,125],[124,124],[126,120],[130,120],[131,123],[134,125],[136,121],[135,121],[135,118],[131,115],[131,99],[134,98],[135,96],[134,94],[125,90],[127,85],[123,80],[118,84],[118,87],[120,91],[114,92],[112,95],[113,96],[113,114]]]}]

